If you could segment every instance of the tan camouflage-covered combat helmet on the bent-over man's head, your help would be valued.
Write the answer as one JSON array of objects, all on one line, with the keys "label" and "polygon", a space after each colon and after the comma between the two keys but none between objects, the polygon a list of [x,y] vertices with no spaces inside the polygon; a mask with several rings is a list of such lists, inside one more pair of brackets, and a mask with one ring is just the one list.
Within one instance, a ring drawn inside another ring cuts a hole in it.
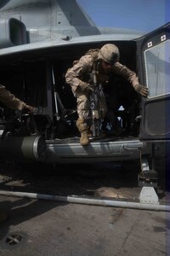
[{"label": "tan camouflage-covered combat helmet on the bent-over man's head", "polygon": [[115,44],[105,44],[100,50],[98,59],[114,65],[119,61],[120,53]]}]

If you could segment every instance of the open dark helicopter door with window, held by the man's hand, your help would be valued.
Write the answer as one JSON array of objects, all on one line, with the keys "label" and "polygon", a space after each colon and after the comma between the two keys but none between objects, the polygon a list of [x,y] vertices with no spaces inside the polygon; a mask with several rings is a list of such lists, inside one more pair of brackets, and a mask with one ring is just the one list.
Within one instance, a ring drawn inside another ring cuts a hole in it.
[{"label": "open dark helicopter door with window, held by the man's hand", "polygon": [[149,89],[141,99],[140,140],[170,139],[170,23],[137,41],[139,80]]}]

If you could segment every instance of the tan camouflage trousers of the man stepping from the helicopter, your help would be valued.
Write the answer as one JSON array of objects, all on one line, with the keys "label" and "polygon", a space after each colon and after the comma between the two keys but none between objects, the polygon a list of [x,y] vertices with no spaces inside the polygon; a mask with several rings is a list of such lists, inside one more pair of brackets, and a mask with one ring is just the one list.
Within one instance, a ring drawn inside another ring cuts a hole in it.
[{"label": "tan camouflage trousers of the man stepping from the helicopter", "polygon": [[[78,117],[88,121],[89,119],[92,118],[92,113],[91,113],[91,108],[90,108],[90,106],[91,106],[90,95],[77,93],[75,96],[77,96]],[[104,119],[105,114],[107,112],[105,96],[98,97],[98,107],[99,107],[100,118]]]}]

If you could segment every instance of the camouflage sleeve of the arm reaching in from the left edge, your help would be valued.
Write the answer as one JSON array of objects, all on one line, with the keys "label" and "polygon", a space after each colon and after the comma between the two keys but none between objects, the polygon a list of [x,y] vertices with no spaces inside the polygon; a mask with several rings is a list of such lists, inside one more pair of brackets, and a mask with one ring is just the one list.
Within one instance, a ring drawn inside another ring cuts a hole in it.
[{"label": "camouflage sleeve of the arm reaching in from the left edge", "polygon": [[24,109],[26,108],[26,103],[20,101],[15,97],[10,91],[0,84],[0,102],[3,102],[8,108],[13,109]]}]

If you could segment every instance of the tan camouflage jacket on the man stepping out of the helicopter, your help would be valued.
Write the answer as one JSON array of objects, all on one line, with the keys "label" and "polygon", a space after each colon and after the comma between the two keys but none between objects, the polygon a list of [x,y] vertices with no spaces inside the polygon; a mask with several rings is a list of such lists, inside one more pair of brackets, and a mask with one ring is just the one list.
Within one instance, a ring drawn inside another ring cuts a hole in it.
[{"label": "tan camouflage jacket on the man stepping out of the helicopter", "polygon": [[[73,67],[68,69],[65,74],[65,80],[67,84],[71,85],[73,93],[77,91],[77,88],[82,81],[89,82],[91,73],[94,69],[94,63],[98,60],[98,53],[99,49],[90,49],[86,55],[83,55],[78,61],[74,61]],[[99,74],[104,75],[105,80],[109,79],[109,77],[105,76],[105,73],[102,73],[101,70],[98,71]],[[116,62],[111,69],[111,73],[118,74],[124,79],[127,79],[133,87],[135,84],[139,84],[139,79],[136,73],[122,65],[120,62]]]}]

